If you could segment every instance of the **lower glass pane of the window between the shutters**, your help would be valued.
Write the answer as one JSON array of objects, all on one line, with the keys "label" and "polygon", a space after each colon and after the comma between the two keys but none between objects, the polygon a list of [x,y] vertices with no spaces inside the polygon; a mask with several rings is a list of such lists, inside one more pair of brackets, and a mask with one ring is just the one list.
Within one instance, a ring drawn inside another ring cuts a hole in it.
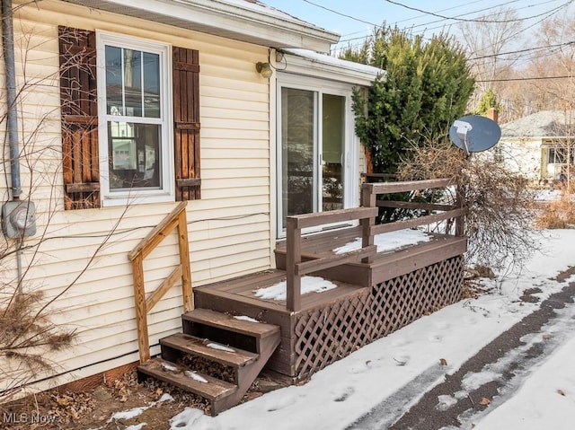
[{"label": "lower glass pane of the window between the shutters", "polygon": [[108,122],[110,190],[160,189],[160,126]]}]

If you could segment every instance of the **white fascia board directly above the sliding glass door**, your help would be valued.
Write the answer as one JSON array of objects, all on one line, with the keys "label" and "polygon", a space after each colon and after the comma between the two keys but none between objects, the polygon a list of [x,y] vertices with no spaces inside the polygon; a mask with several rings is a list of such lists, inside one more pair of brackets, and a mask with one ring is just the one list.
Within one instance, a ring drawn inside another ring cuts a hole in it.
[{"label": "white fascia board directly above the sliding glass door", "polygon": [[384,75],[385,77],[385,70],[376,67],[360,65],[314,52],[305,53],[300,51],[296,55],[290,53],[296,51],[299,50],[284,50],[286,68],[282,68],[281,63],[278,63],[276,67],[279,71],[362,86],[370,86],[378,75]]}]

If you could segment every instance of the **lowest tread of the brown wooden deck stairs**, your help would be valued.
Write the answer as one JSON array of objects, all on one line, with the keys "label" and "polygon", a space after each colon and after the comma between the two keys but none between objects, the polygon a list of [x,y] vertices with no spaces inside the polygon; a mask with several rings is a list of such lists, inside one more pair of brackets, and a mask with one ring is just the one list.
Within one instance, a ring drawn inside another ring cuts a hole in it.
[{"label": "lowest tread of the brown wooden deck stairs", "polygon": [[182,390],[198,394],[212,403],[225,399],[237,391],[237,386],[232,383],[212,378],[204,373],[193,372],[160,357],[139,364],[137,370],[161,381],[172,383]]}]

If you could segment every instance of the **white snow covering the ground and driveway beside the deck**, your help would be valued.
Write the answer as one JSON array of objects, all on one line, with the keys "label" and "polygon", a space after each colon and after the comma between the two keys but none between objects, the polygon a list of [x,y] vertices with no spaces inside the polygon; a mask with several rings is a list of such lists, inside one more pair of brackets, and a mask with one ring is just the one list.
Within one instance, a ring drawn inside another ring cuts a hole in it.
[{"label": "white snow covering the ground and driveway beside the deck", "polygon": [[[185,408],[170,420],[171,430],[387,428],[426,391],[443,382],[448,374],[456,373],[483,346],[539,309],[549,295],[575,282],[575,276],[562,282],[553,279],[575,264],[575,230],[540,233],[539,251],[524,268],[495,279],[482,279],[482,285],[491,288],[488,293],[415,320],[314,373],[304,385],[271,391],[217,417],[208,417],[199,409]],[[541,290],[534,294],[540,302],[521,301],[524,291],[534,286]],[[555,318],[540,331],[521,339],[524,345],[510,349],[479,372],[466,373],[458,391],[438,396],[437,408],[450,408],[455,399],[463,399],[482,384],[497,380],[505,372],[505,364],[514,357],[524,357],[528,348],[551,344],[549,353],[535,365],[516,369],[516,376],[499,395],[490,399],[491,403],[482,412],[459,417],[463,423],[461,428],[572,430],[575,422],[575,362],[572,358],[575,355],[575,303],[566,303],[555,312]],[[405,390],[412,382],[422,380],[422,376],[428,379],[416,391]],[[392,409],[395,416],[368,415],[386,401],[401,405],[397,410]],[[148,427],[143,420],[138,420],[138,414],[146,408],[157,407],[161,405],[155,402],[119,411],[109,422],[130,417],[130,426],[126,428],[146,430]],[[363,421],[357,424],[362,417],[379,421],[374,426],[364,425]]]}]

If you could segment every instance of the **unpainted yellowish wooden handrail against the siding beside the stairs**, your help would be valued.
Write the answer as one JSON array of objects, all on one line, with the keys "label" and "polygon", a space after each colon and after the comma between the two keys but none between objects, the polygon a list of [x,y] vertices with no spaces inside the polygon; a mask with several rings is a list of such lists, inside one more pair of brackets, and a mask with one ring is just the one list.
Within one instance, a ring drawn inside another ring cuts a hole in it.
[{"label": "unpainted yellowish wooden handrail against the siding beside the stairs", "polygon": [[[173,269],[170,276],[164,279],[164,282],[159,285],[152,294],[149,294],[146,299],[144,259],[176,228],[178,229],[180,264]],[[137,244],[136,248],[129,252],[128,259],[132,262],[132,276],[134,278],[137,346],[139,349],[140,363],[145,363],[150,359],[147,314],[179,279],[181,279],[181,296],[183,299],[184,312],[189,312],[194,307],[191,288],[190,245],[188,242],[188,223],[186,221],[186,202],[181,202],[160,224],[157,224],[150,233],[147,233],[146,237]]]}]

